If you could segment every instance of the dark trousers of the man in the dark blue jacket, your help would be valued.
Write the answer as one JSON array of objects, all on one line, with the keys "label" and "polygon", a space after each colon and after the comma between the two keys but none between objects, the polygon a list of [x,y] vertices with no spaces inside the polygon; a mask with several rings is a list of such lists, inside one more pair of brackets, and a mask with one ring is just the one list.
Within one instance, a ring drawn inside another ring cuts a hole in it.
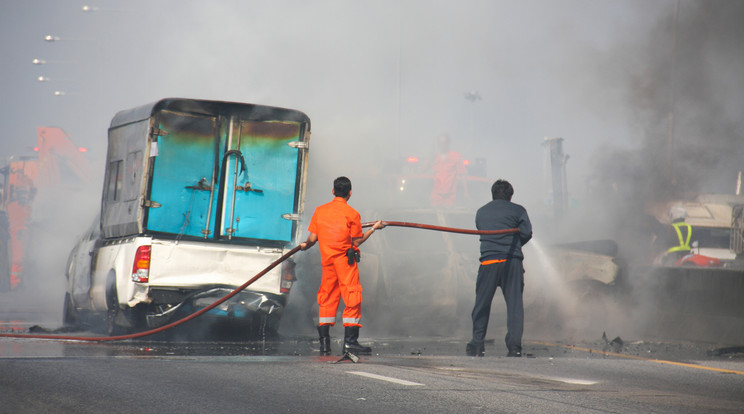
[{"label": "dark trousers of the man in the dark blue jacket", "polygon": [[524,331],[524,268],[521,259],[509,259],[504,263],[481,265],[475,282],[475,306],[473,307],[472,344],[482,345],[486,338],[491,302],[496,288],[501,287],[506,302],[506,347],[521,350]]}]

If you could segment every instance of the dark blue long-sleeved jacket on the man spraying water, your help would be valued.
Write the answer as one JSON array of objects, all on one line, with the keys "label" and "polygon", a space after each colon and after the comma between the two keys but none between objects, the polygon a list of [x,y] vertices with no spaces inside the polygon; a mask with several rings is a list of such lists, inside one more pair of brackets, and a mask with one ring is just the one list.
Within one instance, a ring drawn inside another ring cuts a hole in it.
[{"label": "dark blue long-sleeved jacket on the man spraying water", "polygon": [[522,246],[532,238],[532,223],[527,210],[506,200],[493,200],[475,214],[478,230],[504,230],[518,228],[519,233],[481,235],[480,261],[519,258],[523,259]]}]

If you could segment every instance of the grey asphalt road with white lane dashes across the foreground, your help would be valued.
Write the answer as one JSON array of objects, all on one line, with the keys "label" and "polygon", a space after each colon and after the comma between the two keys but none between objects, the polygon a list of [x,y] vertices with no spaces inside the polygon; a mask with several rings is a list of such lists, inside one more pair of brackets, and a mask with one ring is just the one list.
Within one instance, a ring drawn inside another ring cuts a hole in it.
[{"label": "grey asphalt road with white lane dashes across the foreground", "polygon": [[[28,326],[2,326],[8,332]],[[365,338],[358,363],[280,341],[0,338],[1,413],[700,413],[744,411],[744,354],[695,344]],[[340,349],[338,340],[334,351]],[[732,350],[729,350],[732,351]],[[739,350],[740,351],[740,350]],[[336,352],[338,353],[338,352]]]}]

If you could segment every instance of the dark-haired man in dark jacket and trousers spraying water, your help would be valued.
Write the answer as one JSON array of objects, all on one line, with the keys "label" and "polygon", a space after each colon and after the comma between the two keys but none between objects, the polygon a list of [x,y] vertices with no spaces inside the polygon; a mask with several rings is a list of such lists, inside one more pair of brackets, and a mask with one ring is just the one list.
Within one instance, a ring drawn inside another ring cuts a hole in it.
[{"label": "dark-haired man in dark jacket and trousers spraying water", "polygon": [[522,246],[532,238],[532,224],[524,207],[511,202],[514,188],[506,180],[491,186],[493,201],[478,209],[475,227],[478,230],[505,230],[518,228],[519,233],[482,235],[480,267],[475,282],[473,307],[473,339],[465,352],[469,356],[485,355],[484,341],[491,302],[496,288],[501,287],[506,301],[507,356],[522,356],[524,330],[524,268]]}]

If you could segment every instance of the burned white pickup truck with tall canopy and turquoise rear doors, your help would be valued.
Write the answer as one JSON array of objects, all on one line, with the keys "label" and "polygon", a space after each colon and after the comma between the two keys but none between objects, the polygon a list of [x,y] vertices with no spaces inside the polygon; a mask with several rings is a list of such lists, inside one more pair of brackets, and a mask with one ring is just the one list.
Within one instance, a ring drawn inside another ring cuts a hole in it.
[{"label": "burned white pickup truck with tall canopy and turquoise rear doors", "polygon": [[[300,235],[309,137],[307,115],[262,105],[172,98],[117,113],[64,322],[162,326],[277,260]],[[205,316],[276,329],[294,279],[286,261]]]}]

